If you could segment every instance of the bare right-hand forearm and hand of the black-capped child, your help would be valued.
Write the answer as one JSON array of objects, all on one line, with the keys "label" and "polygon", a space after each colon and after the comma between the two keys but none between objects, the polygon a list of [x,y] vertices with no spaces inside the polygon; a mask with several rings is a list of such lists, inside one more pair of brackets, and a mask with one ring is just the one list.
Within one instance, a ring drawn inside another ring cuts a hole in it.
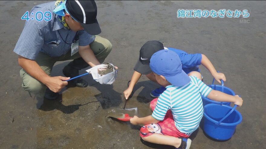
[{"label": "bare right-hand forearm and hand of the black-capped child", "polygon": [[206,67],[209,72],[212,74],[214,79],[221,84],[221,79],[223,81],[226,81],[225,75],[223,73],[217,73],[216,69],[212,65],[211,61],[206,57],[204,54],[201,54],[202,59],[201,59],[201,64]]}]

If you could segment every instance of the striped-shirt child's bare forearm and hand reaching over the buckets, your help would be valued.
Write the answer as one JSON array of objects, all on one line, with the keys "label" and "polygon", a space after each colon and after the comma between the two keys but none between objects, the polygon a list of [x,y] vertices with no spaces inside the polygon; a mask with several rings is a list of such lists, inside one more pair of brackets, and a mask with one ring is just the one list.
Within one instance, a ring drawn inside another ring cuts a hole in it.
[{"label": "striped-shirt child's bare forearm and hand reaching over the buckets", "polygon": [[238,95],[232,96],[216,90],[212,90],[207,96],[207,98],[212,99],[214,101],[232,102],[238,105],[239,107],[241,107],[243,103],[242,98]]}]

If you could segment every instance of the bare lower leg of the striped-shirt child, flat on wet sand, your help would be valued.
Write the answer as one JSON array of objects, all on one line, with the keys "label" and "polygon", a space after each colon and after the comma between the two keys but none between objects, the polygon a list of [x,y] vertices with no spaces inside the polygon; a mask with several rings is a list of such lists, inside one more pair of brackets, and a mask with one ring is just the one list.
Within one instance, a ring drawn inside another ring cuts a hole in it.
[{"label": "bare lower leg of the striped-shirt child, flat on wet sand", "polygon": [[160,135],[160,134],[152,134],[148,137],[141,137],[144,141],[156,143],[156,144],[164,144],[171,145],[176,148],[180,147],[182,139],[176,138],[168,135]]}]

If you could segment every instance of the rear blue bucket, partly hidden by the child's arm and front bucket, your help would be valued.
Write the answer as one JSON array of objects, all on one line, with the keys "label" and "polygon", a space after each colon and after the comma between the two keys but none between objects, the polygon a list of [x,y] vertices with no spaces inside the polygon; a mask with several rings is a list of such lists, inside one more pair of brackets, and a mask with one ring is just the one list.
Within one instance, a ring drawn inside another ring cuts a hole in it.
[{"label": "rear blue bucket, partly hidden by the child's arm and front bucket", "polygon": [[[222,85],[215,85],[214,84],[214,78],[213,78],[213,81],[212,81],[212,85],[208,85],[210,88],[214,89],[214,90],[217,90],[217,91],[221,91],[221,92],[224,92],[226,94],[229,94],[229,95],[232,95],[232,96],[235,96],[235,92],[228,88],[228,87],[225,87],[224,86],[224,83],[223,83],[223,80],[221,80],[221,84]],[[218,102],[218,101],[213,101],[207,97],[203,97],[201,96],[202,98],[202,104],[203,106],[205,106],[206,104],[225,104],[225,105],[228,105],[230,106],[231,102]]]}]

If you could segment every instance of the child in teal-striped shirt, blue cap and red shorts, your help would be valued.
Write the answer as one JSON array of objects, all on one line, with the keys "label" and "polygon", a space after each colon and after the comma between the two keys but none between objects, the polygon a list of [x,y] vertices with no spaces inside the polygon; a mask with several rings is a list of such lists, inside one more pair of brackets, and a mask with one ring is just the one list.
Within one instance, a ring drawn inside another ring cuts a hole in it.
[{"label": "child in teal-striped shirt, blue cap and red shorts", "polygon": [[199,78],[188,76],[182,70],[177,53],[160,50],[150,60],[150,68],[156,81],[166,90],[151,101],[152,115],[130,119],[131,124],[143,124],[140,135],[144,141],[172,145],[176,148],[190,148],[189,136],[200,125],[203,116],[201,95],[214,101],[232,102],[239,107],[243,100],[212,90]]}]

